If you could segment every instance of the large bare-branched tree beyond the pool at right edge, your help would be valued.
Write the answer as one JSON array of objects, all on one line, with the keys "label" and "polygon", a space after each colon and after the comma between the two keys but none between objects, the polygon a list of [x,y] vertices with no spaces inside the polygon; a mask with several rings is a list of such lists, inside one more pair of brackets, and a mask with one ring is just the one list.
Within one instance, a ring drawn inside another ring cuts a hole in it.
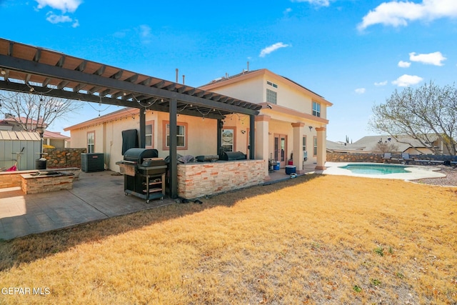
[{"label": "large bare-branched tree beyond the pool at right edge", "polygon": [[398,136],[406,134],[419,141],[434,154],[442,154],[433,145],[440,139],[449,154],[457,149],[457,89],[430,82],[417,89],[395,90],[385,104],[373,106],[369,122],[373,131],[387,133],[400,143]]}]

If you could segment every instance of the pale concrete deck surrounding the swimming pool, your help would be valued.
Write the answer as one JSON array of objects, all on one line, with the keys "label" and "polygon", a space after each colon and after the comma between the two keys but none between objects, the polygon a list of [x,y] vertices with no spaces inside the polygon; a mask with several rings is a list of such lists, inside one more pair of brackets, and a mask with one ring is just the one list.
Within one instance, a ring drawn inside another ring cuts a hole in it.
[{"label": "pale concrete deck surrounding the swimming pool", "polygon": [[[322,171],[322,174],[328,175],[340,175],[340,176],[355,176],[355,177],[363,177],[363,178],[377,178],[377,179],[401,179],[401,180],[419,180],[419,179],[427,179],[427,178],[443,178],[446,177],[446,174],[439,172],[441,169],[435,166],[406,166],[406,170],[410,171],[409,173],[401,173],[401,174],[354,174],[352,171],[348,169],[341,169],[340,166],[346,166],[348,164],[354,164],[354,162],[326,162],[326,169]],[[356,163],[356,164],[367,164],[373,165],[373,163]],[[386,165],[388,164],[380,164],[378,165]],[[396,165],[398,166],[398,164]]]}]

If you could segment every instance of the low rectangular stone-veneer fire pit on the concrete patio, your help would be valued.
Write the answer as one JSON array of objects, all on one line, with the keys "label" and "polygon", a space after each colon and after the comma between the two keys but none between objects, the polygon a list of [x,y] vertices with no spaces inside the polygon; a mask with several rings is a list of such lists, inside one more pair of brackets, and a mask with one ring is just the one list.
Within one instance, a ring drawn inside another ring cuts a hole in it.
[{"label": "low rectangular stone-veneer fire pit on the concrete patio", "polygon": [[25,194],[46,193],[47,191],[61,191],[73,189],[74,174],[40,175],[21,174],[22,191]]}]

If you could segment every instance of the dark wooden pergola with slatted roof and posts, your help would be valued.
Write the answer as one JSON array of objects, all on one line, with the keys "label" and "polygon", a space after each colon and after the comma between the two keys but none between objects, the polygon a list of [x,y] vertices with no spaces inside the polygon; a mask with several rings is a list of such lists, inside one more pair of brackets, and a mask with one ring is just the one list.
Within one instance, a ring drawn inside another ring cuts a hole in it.
[{"label": "dark wooden pergola with slatted roof and posts", "polygon": [[[218,120],[218,149],[223,119],[228,114],[250,118],[249,158],[254,159],[254,116],[261,105],[173,81],[119,69],[37,46],[0,39],[0,89],[76,101],[126,106],[169,113],[169,194],[178,194],[177,114]],[[146,114],[139,111],[139,146],[145,147]]]}]

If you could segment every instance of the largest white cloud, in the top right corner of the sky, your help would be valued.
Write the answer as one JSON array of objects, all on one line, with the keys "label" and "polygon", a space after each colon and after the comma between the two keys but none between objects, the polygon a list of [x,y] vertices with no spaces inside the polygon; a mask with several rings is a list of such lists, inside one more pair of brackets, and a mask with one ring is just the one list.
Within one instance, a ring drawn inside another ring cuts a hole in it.
[{"label": "largest white cloud, in the top right corner of the sky", "polygon": [[457,1],[422,0],[422,3],[390,1],[380,4],[363,16],[362,22],[357,27],[362,31],[374,24],[407,26],[408,21],[433,21],[446,17],[457,17]]}]

